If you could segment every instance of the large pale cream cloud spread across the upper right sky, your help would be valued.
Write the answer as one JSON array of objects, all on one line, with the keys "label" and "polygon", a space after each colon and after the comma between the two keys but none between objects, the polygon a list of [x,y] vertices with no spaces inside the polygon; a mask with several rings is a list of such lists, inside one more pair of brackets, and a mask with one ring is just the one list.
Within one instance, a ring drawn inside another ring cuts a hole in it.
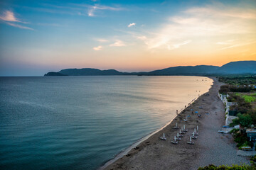
[{"label": "large pale cream cloud spread across the upper right sky", "polygon": [[[255,11],[245,8],[224,5],[188,8],[176,16],[171,16],[153,32],[137,35],[137,39],[142,40],[148,49],[173,50],[181,47],[183,43],[192,42],[193,39],[255,33],[256,26],[252,25],[252,19],[255,21],[255,18]],[[217,43],[231,45],[231,42],[232,40]]]}]

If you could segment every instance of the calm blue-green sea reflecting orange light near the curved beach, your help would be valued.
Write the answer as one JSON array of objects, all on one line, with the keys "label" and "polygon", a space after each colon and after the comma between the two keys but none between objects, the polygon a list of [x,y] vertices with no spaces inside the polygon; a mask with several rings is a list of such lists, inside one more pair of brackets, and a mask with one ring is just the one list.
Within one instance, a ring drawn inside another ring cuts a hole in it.
[{"label": "calm blue-green sea reflecting orange light near the curved beach", "polygon": [[97,169],[211,84],[204,77],[0,77],[0,169]]}]

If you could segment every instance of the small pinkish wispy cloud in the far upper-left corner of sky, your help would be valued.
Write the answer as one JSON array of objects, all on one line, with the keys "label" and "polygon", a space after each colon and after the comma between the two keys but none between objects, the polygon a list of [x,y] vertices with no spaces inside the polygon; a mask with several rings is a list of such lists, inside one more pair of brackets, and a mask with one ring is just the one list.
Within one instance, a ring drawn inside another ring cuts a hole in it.
[{"label": "small pinkish wispy cloud in the far upper-left corner of sky", "polygon": [[0,16],[0,20],[4,21],[4,23],[8,24],[9,26],[14,26],[16,28],[21,28],[21,29],[33,30],[33,28],[29,28],[29,27],[21,26],[20,24],[17,24],[17,23],[26,23],[26,22],[18,20],[18,18],[14,16],[13,11],[9,11],[9,10],[4,11]]}]

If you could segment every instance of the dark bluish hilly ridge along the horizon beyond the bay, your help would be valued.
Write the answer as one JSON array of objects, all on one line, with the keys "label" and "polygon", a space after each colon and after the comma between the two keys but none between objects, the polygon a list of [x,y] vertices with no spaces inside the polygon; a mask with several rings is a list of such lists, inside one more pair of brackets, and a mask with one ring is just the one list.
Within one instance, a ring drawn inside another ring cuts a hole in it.
[{"label": "dark bluish hilly ridge along the horizon beyond the bay", "polygon": [[178,66],[151,72],[119,72],[115,69],[62,69],[60,72],[48,72],[44,76],[171,76],[171,75],[214,75],[214,74],[256,74],[256,61],[229,62],[221,67],[212,65]]}]

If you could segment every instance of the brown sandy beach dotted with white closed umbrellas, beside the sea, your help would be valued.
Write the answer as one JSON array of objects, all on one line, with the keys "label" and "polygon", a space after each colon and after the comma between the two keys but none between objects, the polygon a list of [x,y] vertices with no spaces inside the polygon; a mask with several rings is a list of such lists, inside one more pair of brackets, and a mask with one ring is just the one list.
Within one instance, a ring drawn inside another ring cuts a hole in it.
[{"label": "brown sandy beach dotted with white closed umbrellas, beside the sea", "polygon": [[[182,113],[163,130],[149,137],[137,148],[132,149],[129,154],[110,164],[105,169],[198,169],[199,166],[208,164],[249,164],[246,157],[236,155],[235,143],[231,135],[223,135],[218,130],[225,124],[224,106],[218,98],[220,82],[215,78],[212,88],[206,94],[200,96],[191,106],[188,106]],[[203,107],[203,108],[199,108]],[[193,114],[191,109],[193,109]],[[195,114],[201,114],[199,118]],[[209,114],[206,114],[208,112]],[[188,117],[188,121],[183,119]],[[186,125],[185,135],[178,142],[178,145],[171,144],[174,135],[178,130],[173,127]],[[188,145],[187,142],[194,128],[198,125],[198,139],[193,140],[195,145]],[[167,140],[160,140],[159,137],[165,133]]]}]

